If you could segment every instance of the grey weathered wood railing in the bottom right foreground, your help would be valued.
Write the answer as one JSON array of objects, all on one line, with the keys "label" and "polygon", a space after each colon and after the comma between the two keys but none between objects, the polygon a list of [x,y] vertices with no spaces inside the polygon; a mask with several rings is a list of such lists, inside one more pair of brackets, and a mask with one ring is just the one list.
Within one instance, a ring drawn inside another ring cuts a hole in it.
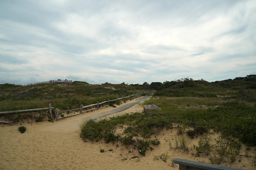
[{"label": "grey weathered wood railing in the bottom right foreground", "polygon": [[213,165],[197,161],[189,161],[186,159],[173,159],[173,163],[180,164],[179,170],[244,170],[239,168],[231,168],[227,166]]}]

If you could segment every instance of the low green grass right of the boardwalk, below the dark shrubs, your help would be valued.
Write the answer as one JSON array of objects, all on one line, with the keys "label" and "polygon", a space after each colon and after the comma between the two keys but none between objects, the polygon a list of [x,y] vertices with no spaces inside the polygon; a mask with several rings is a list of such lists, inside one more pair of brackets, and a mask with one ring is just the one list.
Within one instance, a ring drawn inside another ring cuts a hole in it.
[{"label": "low green grass right of the boardwalk, below the dark shrubs", "polygon": [[[124,126],[126,135],[121,137],[119,134],[114,141],[120,140],[124,145],[133,145],[138,148],[141,155],[145,155],[150,145],[153,145],[149,142],[150,138],[158,135],[162,129],[174,128],[175,125],[180,129],[179,132],[181,134],[174,137],[175,148],[188,150],[189,140],[187,136],[191,138],[202,136],[200,143],[194,146],[197,152],[209,155],[210,152],[215,151],[218,157],[216,159],[212,158],[213,162],[222,161],[222,155],[229,157],[230,161],[233,162],[238,159],[239,143],[230,142],[229,145],[232,145],[232,147],[225,148],[224,139],[232,141],[233,138],[237,138],[247,146],[256,146],[256,141],[254,140],[256,139],[256,104],[239,99],[239,97],[236,97],[237,93],[235,91],[217,91],[214,93],[221,96],[229,93],[233,97],[155,96],[146,100],[144,105],[155,104],[161,108],[160,111],[126,114],[121,117],[110,118],[105,123],[112,124],[111,128],[100,122],[95,122],[93,130],[97,130],[98,126],[101,126],[104,130],[113,131],[113,134],[115,134],[115,129],[118,126],[126,125]],[[84,124],[83,126],[87,125]],[[88,126],[91,125],[88,124]],[[185,134],[184,127],[190,128],[190,130],[186,130]],[[88,130],[90,127],[82,129]],[[207,136],[210,129],[225,136],[222,140],[219,139],[218,145],[213,146],[211,144],[211,139]],[[105,133],[104,130],[101,132]],[[87,134],[82,130],[83,133]],[[141,141],[143,138],[145,140]],[[104,135],[101,133],[92,140],[95,139],[105,140]]]}]

